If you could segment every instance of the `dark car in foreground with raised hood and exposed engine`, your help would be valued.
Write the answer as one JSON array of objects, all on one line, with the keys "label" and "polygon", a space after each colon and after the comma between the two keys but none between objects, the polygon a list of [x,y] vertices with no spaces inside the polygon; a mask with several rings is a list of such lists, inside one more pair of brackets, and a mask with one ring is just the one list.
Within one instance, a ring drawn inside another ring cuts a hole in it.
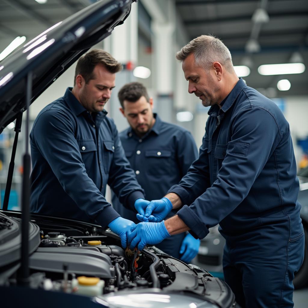
[{"label": "dark car in foreground with raised hood and exposed engine", "polygon": [[[51,27],[0,63],[0,132],[90,47],[127,18],[132,0],[101,0]],[[27,113],[28,114],[28,113]],[[29,136],[29,117],[26,133]],[[230,287],[155,246],[122,249],[99,225],[29,214],[30,156],[23,164],[22,213],[0,211],[1,307],[234,308]],[[80,183],[82,187],[82,183]]]}]

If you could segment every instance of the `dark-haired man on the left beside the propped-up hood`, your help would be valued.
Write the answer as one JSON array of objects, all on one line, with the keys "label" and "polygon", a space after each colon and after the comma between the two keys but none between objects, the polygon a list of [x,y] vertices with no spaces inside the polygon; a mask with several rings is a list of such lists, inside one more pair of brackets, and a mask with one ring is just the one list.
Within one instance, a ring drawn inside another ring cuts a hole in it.
[{"label": "dark-haired man on the left beside the propped-up hood", "polygon": [[37,116],[30,133],[30,204],[34,213],[108,225],[126,247],[135,223],[120,217],[106,201],[106,185],[122,204],[135,205],[139,212],[148,201],[104,110],[120,69],[107,52],[88,52],[78,60],[74,87]]}]

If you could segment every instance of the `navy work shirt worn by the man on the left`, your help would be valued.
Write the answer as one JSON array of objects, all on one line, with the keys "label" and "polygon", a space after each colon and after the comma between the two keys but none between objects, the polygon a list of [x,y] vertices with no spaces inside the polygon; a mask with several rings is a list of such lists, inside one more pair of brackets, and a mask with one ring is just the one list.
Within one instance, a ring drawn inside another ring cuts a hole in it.
[{"label": "navy work shirt worn by the man on the left", "polygon": [[91,114],[67,88],[30,133],[31,211],[108,225],[120,215],[104,197],[110,185],[127,207],[143,198],[113,120]]}]

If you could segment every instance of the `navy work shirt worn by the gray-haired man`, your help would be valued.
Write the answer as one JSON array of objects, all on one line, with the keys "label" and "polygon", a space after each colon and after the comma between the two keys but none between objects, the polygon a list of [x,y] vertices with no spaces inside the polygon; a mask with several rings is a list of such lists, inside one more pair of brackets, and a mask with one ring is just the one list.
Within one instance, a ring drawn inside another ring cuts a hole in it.
[{"label": "navy work shirt worn by the gray-haired man", "polygon": [[219,223],[228,240],[268,224],[300,234],[298,190],[288,122],[240,79],[221,109],[210,108],[199,158],[168,192],[180,196],[178,215],[194,236]]}]

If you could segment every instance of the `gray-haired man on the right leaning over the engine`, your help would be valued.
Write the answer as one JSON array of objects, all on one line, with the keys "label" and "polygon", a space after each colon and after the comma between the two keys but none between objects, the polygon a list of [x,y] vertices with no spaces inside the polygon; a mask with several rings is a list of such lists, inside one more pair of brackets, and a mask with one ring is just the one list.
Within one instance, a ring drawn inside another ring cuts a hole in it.
[{"label": "gray-haired man on the right leaning over the engine", "polygon": [[[198,238],[220,223],[225,280],[242,307],[293,307],[304,257],[299,182],[289,124],[270,99],[247,87],[228,48],[202,35],[184,46],[188,92],[211,106],[196,160],[178,185],[146,210],[131,247],[187,230]],[[178,215],[163,221],[170,209]],[[152,216],[149,214],[152,212]]]}]

